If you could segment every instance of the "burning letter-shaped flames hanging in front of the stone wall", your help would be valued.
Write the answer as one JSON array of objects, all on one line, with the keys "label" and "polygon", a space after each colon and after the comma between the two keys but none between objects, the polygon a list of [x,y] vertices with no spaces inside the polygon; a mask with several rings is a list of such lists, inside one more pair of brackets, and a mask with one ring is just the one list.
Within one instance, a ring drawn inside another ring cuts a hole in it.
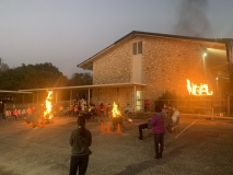
[{"label": "burning letter-shaped flames hanging in front of the stone wall", "polygon": [[190,83],[189,80],[187,80],[187,89],[189,95],[193,94],[196,96],[206,96],[213,94],[212,91],[209,92],[208,84],[200,83],[200,85],[198,86],[197,84]]}]

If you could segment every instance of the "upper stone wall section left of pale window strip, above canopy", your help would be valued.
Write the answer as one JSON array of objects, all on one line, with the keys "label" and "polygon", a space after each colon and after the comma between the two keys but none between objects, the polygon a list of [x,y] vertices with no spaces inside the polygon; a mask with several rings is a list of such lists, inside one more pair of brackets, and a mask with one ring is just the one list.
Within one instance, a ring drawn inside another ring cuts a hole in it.
[{"label": "upper stone wall section left of pale window strip, above canopy", "polygon": [[123,42],[114,50],[93,62],[93,84],[126,83],[131,79],[131,40]]}]

